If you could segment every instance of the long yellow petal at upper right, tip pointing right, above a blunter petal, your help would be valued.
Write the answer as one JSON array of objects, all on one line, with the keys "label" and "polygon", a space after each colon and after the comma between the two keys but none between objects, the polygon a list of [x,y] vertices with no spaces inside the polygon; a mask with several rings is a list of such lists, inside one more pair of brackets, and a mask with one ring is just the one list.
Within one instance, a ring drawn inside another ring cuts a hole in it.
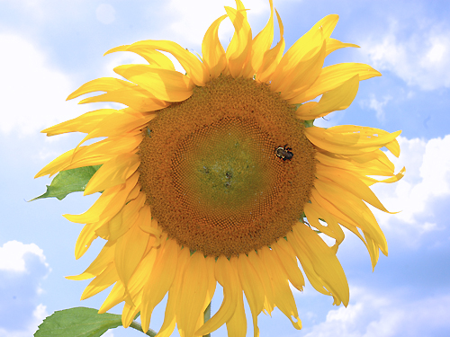
[{"label": "long yellow petal at upper right, tip pointing right, above a blunter petal", "polygon": [[288,102],[300,104],[311,101],[320,94],[337,88],[355,75],[359,75],[360,81],[374,76],[381,76],[373,67],[362,63],[339,63],[338,65],[324,67],[308,90],[290,98]]}]

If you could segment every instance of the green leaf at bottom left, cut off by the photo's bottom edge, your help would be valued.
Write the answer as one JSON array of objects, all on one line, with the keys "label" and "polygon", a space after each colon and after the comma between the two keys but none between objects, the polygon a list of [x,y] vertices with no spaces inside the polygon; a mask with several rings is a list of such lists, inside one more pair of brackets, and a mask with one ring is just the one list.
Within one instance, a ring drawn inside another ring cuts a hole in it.
[{"label": "green leaf at bottom left, cut off by the photo's bottom edge", "polygon": [[98,314],[89,307],[73,307],[49,315],[34,337],[99,337],[120,325],[121,315]]}]

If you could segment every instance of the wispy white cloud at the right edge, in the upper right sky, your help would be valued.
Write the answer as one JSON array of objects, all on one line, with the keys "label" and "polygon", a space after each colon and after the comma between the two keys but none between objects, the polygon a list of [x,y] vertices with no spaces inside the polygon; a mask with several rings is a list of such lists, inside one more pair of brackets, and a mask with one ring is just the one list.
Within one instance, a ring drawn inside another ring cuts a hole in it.
[{"label": "wispy white cloud at the right edge, in the upper right sky", "polygon": [[416,30],[401,38],[396,22],[381,38],[361,43],[360,51],[377,70],[391,71],[422,90],[450,87],[450,30],[440,26]]}]

